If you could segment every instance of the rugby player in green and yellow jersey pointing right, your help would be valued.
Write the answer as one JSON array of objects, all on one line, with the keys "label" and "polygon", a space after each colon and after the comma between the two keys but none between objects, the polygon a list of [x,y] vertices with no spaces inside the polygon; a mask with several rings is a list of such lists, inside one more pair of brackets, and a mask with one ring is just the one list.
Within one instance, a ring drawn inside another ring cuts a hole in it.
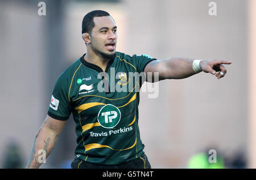
[{"label": "rugby player in green and yellow jersey pointing right", "polygon": [[[84,16],[82,39],[87,51],[57,78],[27,168],[39,168],[43,162],[39,150],[43,153],[43,149],[46,157],[51,153],[71,113],[77,134],[71,168],[151,168],[138,126],[138,89],[143,79],[155,82],[154,73],[158,74],[156,81],[182,79],[202,71],[220,79],[226,74],[223,64],[231,64],[189,58],[156,60],[116,52],[117,25],[108,12],[101,10]],[[144,76],[134,78],[130,73]]]}]

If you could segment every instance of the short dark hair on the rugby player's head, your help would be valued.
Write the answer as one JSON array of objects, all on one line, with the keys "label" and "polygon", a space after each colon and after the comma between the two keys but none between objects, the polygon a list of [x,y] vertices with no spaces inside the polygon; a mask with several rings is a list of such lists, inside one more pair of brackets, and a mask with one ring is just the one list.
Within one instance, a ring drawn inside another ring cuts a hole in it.
[{"label": "short dark hair on the rugby player's head", "polygon": [[84,34],[85,32],[91,34],[92,28],[95,26],[93,18],[101,16],[110,16],[110,14],[109,12],[102,10],[94,10],[88,12],[88,14],[84,16],[84,19],[82,19],[82,34]]}]

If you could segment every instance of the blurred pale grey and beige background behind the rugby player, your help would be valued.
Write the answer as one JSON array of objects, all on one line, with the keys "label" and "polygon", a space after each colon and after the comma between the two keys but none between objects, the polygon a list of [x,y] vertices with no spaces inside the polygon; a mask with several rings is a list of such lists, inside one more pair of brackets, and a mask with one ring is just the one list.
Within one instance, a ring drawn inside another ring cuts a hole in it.
[{"label": "blurred pale grey and beige background behind the rugby player", "polygon": [[[57,77],[86,52],[92,10],[114,18],[117,51],[232,61],[225,78],[199,73],[159,82],[158,98],[141,93],[152,168],[209,168],[209,150],[218,168],[256,168],[256,1],[47,0],[45,15],[39,2],[0,0],[0,168],[26,166]],[[71,115],[41,168],[70,168],[75,147]]]}]

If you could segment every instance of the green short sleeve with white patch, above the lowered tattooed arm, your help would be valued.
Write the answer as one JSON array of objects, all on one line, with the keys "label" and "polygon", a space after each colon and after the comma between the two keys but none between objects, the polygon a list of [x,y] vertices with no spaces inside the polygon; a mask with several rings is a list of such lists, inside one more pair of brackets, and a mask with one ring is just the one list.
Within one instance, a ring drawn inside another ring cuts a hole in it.
[{"label": "green short sleeve with white patch, above the lowered tattooed arm", "polygon": [[68,99],[68,78],[63,74],[57,78],[52,92],[51,102],[48,108],[48,115],[57,120],[68,120],[72,108]]}]

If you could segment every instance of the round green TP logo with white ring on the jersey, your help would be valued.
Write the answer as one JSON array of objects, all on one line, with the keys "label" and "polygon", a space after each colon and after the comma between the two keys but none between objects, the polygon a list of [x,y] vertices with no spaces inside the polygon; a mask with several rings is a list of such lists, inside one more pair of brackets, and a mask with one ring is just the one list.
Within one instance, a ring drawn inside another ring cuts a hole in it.
[{"label": "round green TP logo with white ring on the jersey", "polygon": [[112,104],[106,104],[98,112],[98,123],[104,128],[113,128],[121,119],[120,110]]}]

